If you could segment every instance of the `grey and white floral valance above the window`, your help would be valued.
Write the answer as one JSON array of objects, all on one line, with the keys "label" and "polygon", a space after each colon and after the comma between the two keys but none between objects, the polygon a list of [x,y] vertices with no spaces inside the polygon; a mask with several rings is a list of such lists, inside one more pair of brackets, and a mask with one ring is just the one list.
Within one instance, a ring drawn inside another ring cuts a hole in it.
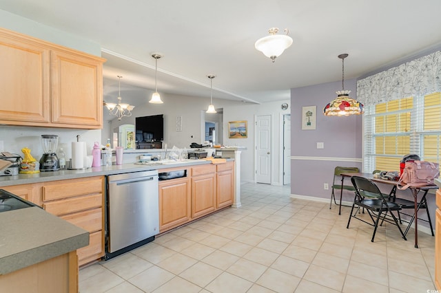
[{"label": "grey and white floral valance above the window", "polygon": [[357,81],[357,100],[376,105],[441,91],[441,51]]}]

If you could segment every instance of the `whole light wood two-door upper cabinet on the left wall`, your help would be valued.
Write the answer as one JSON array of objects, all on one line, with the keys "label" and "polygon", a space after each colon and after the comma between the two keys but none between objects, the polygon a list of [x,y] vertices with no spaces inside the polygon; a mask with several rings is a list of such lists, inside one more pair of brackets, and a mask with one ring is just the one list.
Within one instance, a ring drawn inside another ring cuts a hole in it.
[{"label": "whole light wood two-door upper cabinet on the left wall", "polygon": [[104,61],[0,28],[0,123],[101,129]]}]

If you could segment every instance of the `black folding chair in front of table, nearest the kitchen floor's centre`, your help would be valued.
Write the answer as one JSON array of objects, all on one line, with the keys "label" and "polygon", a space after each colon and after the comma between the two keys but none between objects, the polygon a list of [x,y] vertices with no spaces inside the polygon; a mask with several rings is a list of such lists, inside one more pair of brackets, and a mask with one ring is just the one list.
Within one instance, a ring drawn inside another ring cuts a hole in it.
[{"label": "black folding chair in front of table, nearest the kitchen floor's centre", "polygon": [[[373,234],[371,239],[371,241],[373,242],[373,239],[375,238],[375,234],[377,232],[378,222],[380,221],[382,213],[384,213],[384,216],[382,217],[382,222],[387,221],[391,224],[396,224],[398,230],[400,230],[402,238],[404,240],[407,240],[406,236],[401,230],[400,224],[398,224],[398,219],[392,213],[393,210],[401,210],[401,207],[398,204],[387,201],[386,198],[388,197],[388,195],[381,193],[380,189],[378,189],[378,186],[376,186],[376,184],[373,183],[371,180],[365,177],[353,176],[351,177],[351,182],[356,191],[346,228],[349,229],[349,224],[351,223],[352,217],[373,226]],[[355,206],[367,210],[369,217],[371,217],[372,223],[369,223],[368,221],[357,217],[357,211],[356,213],[353,213],[353,209]],[[387,214],[392,217],[393,221],[390,221],[386,218]],[[376,217],[375,219],[374,216]]]}]

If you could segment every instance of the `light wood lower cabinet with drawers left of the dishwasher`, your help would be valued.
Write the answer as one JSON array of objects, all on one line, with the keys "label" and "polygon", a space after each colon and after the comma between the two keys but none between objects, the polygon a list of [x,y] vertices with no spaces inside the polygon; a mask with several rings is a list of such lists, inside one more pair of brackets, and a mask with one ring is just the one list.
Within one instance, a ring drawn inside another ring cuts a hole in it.
[{"label": "light wood lower cabinet with drawers left of the dishwasher", "polygon": [[76,250],[79,265],[104,256],[104,188],[103,176],[1,187],[89,231],[89,245]]}]

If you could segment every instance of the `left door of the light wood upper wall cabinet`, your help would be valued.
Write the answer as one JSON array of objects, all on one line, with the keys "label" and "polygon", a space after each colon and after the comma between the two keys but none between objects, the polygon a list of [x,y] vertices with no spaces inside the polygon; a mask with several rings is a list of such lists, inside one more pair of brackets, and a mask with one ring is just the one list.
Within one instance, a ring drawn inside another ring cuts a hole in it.
[{"label": "left door of the light wood upper wall cabinet", "polygon": [[0,123],[50,122],[49,50],[0,30]]}]

